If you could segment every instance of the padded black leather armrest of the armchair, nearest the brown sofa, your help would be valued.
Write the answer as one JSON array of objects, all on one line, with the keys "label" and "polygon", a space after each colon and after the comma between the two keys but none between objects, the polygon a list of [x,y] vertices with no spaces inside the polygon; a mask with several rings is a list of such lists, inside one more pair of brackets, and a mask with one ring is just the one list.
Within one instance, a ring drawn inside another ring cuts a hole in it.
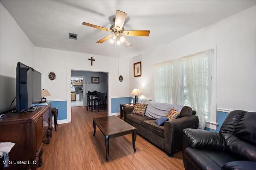
[{"label": "padded black leather armrest of the armchair, nearest the brown sofa", "polygon": [[183,132],[193,148],[225,150],[225,141],[220,133],[201,129],[184,129]]}]

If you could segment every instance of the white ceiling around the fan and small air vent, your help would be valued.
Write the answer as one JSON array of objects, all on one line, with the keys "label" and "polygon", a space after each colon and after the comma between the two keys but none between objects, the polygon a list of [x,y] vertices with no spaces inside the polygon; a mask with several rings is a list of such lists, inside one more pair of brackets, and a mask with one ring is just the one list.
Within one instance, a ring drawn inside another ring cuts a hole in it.
[{"label": "white ceiling around the fan and small air vent", "polygon": [[[256,0],[0,0],[35,46],[111,57],[134,57],[208,26],[246,8]],[[109,28],[116,9],[127,13],[125,30],[150,30],[149,37],[127,37],[132,46],[96,41]],[[78,34],[77,40],[68,33]]]}]

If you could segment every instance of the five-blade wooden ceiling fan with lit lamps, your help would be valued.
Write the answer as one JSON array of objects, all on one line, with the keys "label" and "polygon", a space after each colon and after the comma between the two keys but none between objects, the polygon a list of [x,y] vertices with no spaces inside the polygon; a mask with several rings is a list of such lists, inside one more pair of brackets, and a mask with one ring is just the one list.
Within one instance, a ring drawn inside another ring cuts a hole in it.
[{"label": "five-blade wooden ceiling fan with lit lamps", "polygon": [[111,32],[111,35],[108,35],[107,37],[102,38],[101,40],[97,41],[97,43],[102,43],[105,42],[107,40],[110,40],[111,43],[116,42],[117,45],[119,45],[120,43],[123,43],[126,47],[130,47],[131,43],[128,42],[128,40],[126,40],[126,38],[124,36],[149,36],[149,30],[129,30],[126,31],[125,28],[123,27],[124,23],[125,23],[125,17],[126,17],[126,13],[116,10],[116,18],[113,19],[114,23],[109,29],[108,28],[104,28],[104,27],[100,27],[100,26],[96,26],[90,23],[84,23],[84,26],[90,26],[93,28],[97,28],[99,30],[102,31],[108,31]]}]

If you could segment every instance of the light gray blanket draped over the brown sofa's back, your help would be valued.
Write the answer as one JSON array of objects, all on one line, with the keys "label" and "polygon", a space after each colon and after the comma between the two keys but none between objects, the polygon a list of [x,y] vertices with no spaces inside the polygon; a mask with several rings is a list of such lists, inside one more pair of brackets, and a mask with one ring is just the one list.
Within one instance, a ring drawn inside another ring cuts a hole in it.
[{"label": "light gray blanket draped over the brown sofa's back", "polygon": [[180,112],[183,105],[173,105],[169,103],[158,103],[149,100],[143,100],[142,103],[148,104],[145,116],[151,117],[152,119],[158,119],[160,117],[166,116],[171,108],[175,108],[176,111]]}]

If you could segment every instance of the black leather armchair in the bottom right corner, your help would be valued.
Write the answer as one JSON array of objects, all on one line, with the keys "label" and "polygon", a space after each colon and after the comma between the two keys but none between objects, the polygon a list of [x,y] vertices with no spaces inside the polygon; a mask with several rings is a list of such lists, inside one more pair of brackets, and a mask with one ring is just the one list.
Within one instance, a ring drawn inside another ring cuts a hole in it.
[{"label": "black leather armchair in the bottom right corner", "polygon": [[186,170],[256,170],[256,113],[232,111],[220,133],[183,130]]}]

